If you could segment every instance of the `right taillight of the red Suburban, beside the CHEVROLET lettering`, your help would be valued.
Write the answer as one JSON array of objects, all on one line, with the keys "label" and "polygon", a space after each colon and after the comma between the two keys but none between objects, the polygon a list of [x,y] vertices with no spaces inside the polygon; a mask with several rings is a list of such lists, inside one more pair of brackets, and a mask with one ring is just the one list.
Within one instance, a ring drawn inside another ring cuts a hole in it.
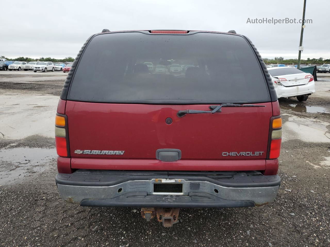
[{"label": "right taillight of the red Suburban, beside the CHEVROLET lettering", "polygon": [[280,116],[272,117],[269,131],[268,158],[277,159],[280,156],[282,141],[282,119]]}]

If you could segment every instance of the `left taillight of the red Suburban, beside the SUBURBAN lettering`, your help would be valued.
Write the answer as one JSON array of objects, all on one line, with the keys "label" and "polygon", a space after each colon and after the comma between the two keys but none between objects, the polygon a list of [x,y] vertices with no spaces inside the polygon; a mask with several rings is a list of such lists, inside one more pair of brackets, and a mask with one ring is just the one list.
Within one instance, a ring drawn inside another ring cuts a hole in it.
[{"label": "left taillight of the red Suburban, beside the SUBURBAN lettering", "polygon": [[69,137],[67,116],[57,113],[55,117],[55,144],[58,156],[68,157],[69,152]]}]

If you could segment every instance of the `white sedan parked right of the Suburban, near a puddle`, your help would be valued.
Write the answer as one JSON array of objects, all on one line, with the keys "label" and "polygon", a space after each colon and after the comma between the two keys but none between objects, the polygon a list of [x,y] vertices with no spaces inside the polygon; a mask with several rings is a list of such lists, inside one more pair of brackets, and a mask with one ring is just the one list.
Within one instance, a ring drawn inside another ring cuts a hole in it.
[{"label": "white sedan parked right of the Suburban, near a puddle", "polygon": [[297,97],[299,101],[306,101],[308,96],[315,93],[314,77],[292,67],[268,68],[278,98]]}]

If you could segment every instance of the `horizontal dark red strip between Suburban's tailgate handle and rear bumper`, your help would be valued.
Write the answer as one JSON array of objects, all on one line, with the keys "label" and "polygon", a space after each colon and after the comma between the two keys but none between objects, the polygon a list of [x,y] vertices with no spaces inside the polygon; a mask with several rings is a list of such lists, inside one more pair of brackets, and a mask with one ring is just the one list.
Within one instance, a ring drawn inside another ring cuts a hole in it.
[{"label": "horizontal dark red strip between Suburban's tailgate handle and rear bumper", "polygon": [[266,169],[266,161],[249,159],[163,162],[156,159],[71,158],[71,168],[140,171],[262,171]]}]

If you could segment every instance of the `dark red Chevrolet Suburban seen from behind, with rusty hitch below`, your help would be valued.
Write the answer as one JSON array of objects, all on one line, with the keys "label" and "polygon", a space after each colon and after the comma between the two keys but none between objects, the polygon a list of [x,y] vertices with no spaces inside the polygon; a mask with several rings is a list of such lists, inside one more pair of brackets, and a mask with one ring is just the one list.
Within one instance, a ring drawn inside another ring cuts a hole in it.
[{"label": "dark red Chevrolet Suburban seen from behind, with rusty hitch below", "polygon": [[281,125],[247,37],[103,30],[83,44],[58,103],[57,188],[80,206],[141,207],[165,227],[180,208],[269,204]]}]

